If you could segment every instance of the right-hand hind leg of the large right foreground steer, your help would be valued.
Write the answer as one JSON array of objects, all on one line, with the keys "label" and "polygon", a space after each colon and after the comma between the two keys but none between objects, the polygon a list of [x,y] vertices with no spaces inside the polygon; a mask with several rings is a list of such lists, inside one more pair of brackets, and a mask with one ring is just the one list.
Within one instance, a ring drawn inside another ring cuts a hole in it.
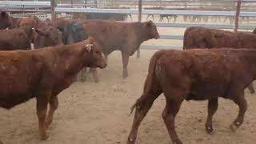
[{"label": "right-hand hind leg of the large right foreground steer", "polygon": [[[166,95],[166,93],[164,92]],[[172,93],[174,94],[174,93]],[[166,95],[166,107],[162,111],[162,118],[166,124],[166,128],[170,135],[170,139],[175,144],[182,144],[183,142],[178,138],[178,134],[175,130],[175,117],[180,109],[182,100],[178,100],[178,97],[172,95],[173,99],[170,99],[170,95]],[[177,98],[177,99],[174,99]]]}]

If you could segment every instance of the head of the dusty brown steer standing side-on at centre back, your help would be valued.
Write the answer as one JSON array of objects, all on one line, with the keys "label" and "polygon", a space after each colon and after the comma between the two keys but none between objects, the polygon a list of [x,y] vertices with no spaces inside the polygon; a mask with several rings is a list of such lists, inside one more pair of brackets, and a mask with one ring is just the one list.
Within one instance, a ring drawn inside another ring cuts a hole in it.
[{"label": "head of the dusty brown steer standing side-on at centre back", "polygon": [[147,22],[142,22],[144,27],[146,28],[146,37],[148,39],[154,38],[158,39],[160,38],[157,30],[157,26],[155,26],[154,22],[152,21],[147,21]]}]

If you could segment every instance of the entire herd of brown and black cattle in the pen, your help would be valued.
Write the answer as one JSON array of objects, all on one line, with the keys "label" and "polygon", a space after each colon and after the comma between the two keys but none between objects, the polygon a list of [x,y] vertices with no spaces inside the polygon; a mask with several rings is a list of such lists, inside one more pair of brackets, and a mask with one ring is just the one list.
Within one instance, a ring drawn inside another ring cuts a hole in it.
[{"label": "entire herd of brown and black cattle in the pen", "polygon": [[[39,134],[43,140],[58,108],[58,94],[68,88],[83,67],[107,66],[107,56],[122,52],[122,76],[128,76],[129,57],[142,42],[159,38],[154,22],[116,22],[37,17],[12,18],[0,11],[0,107],[37,100]],[[208,100],[206,132],[213,132],[212,118],[218,97],[233,100],[239,107],[231,130],[242,125],[247,102],[244,90],[256,79],[256,34],[189,27],[184,50],[159,50],[150,59],[143,94],[134,103],[134,122],[127,144],[134,144],[138,127],[160,94],[166,97],[162,118],[176,144],[182,144],[174,120],[184,100]],[[34,43],[31,50],[30,43]],[[190,50],[191,49],[191,50]],[[50,110],[47,114],[47,106]],[[0,141],[1,142],[1,141]]]}]

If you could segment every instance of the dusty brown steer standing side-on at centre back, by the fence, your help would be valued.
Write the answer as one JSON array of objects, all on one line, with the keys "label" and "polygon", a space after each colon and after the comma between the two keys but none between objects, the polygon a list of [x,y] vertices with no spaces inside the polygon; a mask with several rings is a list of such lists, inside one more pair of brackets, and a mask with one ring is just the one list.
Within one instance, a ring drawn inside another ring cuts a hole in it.
[{"label": "dusty brown steer standing side-on at centre back, by the fence", "polygon": [[[84,22],[87,34],[94,38],[107,56],[114,50],[122,51],[122,76],[128,76],[129,57],[142,42],[159,38],[154,22],[115,22],[111,20],[88,20]],[[96,73],[96,72],[95,72]],[[95,74],[96,75],[96,74]]]}]

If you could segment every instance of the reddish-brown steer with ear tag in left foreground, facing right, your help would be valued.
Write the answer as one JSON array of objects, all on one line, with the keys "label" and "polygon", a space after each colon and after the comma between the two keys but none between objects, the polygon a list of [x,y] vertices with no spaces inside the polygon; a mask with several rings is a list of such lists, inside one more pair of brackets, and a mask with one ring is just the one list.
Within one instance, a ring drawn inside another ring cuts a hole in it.
[{"label": "reddish-brown steer with ear tag in left foreground, facing right", "polygon": [[35,97],[39,134],[45,140],[49,138],[46,129],[58,108],[57,95],[71,85],[83,67],[106,67],[102,51],[91,38],[66,46],[2,51],[0,107],[10,109]]}]

